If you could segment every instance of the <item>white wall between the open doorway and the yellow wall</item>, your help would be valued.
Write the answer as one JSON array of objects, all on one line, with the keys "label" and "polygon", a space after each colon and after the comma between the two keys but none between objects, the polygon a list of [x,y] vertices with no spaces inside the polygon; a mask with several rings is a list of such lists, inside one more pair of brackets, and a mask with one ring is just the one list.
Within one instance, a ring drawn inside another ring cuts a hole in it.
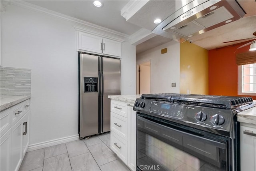
[{"label": "white wall between the open doorway and the yellow wall", "polygon": [[[161,54],[161,49],[167,53]],[[151,60],[151,93],[180,92],[180,43],[171,41],[137,54],[136,64]],[[176,87],[172,87],[172,83]]]}]

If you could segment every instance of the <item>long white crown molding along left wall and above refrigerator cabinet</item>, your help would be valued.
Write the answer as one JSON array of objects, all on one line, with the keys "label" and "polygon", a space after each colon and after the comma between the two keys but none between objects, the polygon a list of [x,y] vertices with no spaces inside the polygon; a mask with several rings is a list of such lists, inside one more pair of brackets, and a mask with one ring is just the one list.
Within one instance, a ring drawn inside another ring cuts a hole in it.
[{"label": "long white crown molding along left wall and above refrigerator cabinet", "polygon": [[71,16],[67,16],[65,14],[61,14],[59,12],[55,12],[52,10],[48,10],[46,8],[42,8],[40,6],[36,6],[34,4],[30,4],[28,2],[24,2],[24,1],[11,1],[11,4],[16,5],[16,6],[20,6],[22,8],[26,8],[29,10],[33,10],[36,12],[40,12],[42,14],[46,14],[49,16],[54,16],[57,18],[61,18],[64,20],[68,20],[69,22],[72,22],[74,24],[74,28],[77,31],[84,31],[90,34],[96,34],[96,35],[100,35],[102,37],[106,37],[106,38],[110,38],[113,40],[118,40],[120,42],[124,42],[124,40],[129,38],[129,35],[127,34],[123,34],[102,26],[98,26],[96,24],[92,24],[89,22],[86,22],[84,20],[80,20]]}]

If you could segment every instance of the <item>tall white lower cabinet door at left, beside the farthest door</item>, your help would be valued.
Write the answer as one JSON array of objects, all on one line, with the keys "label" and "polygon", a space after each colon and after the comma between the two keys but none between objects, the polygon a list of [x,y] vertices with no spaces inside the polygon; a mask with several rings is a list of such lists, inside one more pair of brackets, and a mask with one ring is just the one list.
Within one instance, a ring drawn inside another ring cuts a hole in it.
[{"label": "tall white lower cabinet door at left, beside the farthest door", "polygon": [[22,119],[11,128],[11,170],[18,170],[22,162]]}]

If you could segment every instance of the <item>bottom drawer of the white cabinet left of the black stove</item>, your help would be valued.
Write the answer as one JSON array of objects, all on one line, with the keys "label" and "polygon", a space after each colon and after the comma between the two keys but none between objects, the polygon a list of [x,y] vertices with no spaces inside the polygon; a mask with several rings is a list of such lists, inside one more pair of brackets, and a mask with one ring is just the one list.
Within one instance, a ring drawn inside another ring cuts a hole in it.
[{"label": "bottom drawer of the white cabinet left of the black stove", "polygon": [[113,131],[110,132],[110,148],[127,165],[127,141]]}]

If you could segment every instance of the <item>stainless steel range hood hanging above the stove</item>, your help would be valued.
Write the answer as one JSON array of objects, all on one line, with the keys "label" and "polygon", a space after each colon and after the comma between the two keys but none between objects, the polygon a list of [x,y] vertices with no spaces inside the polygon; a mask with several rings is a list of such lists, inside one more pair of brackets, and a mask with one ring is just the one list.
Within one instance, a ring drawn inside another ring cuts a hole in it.
[{"label": "stainless steel range hood hanging above the stove", "polygon": [[234,22],[246,14],[235,0],[182,1],[186,5],[160,23],[153,33],[184,42],[192,36]]}]

